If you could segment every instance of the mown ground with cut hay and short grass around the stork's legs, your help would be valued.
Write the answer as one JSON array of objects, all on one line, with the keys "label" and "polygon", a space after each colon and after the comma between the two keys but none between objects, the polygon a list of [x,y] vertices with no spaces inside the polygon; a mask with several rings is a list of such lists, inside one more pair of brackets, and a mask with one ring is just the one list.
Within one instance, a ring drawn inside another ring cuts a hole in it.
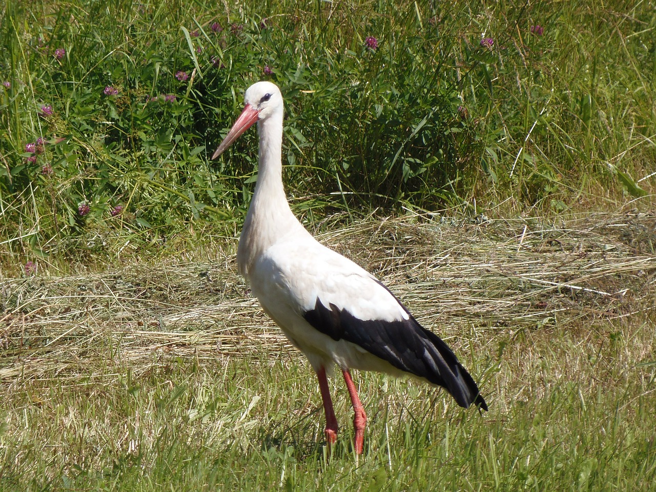
[{"label": "mown ground with cut hay and short grass around the stork's legs", "polygon": [[[340,217],[335,217],[339,222]],[[333,227],[459,354],[490,411],[358,373],[365,454],[325,459],[304,358],[220,260],[0,283],[2,490],[632,490],[656,482],[656,217]]]}]

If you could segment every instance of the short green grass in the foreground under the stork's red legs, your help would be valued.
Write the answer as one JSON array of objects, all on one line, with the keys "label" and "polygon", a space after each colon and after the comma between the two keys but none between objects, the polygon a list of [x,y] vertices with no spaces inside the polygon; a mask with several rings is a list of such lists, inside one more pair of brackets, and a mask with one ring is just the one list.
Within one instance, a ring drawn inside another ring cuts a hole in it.
[{"label": "short green grass in the foreground under the stork's red legs", "polygon": [[[546,356],[523,371],[558,373],[563,358],[539,338],[527,341]],[[585,384],[597,368],[582,359],[612,356],[591,349],[565,358],[577,377],[535,382],[545,394],[529,401],[490,394],[483,417],[428,388],[360,375],[370,424],[359,459],[350,449],[352,415],[338,405],[342,438],[326,460],[316,381],[298,357],[169,361],[140,377],[126,365],[94,367],[93,377],[62,378],[54,388],[31,382],[12,395],[7,425],[21,428],[20,439],[3,442],[0,487],[649,491],[654,400],[627,398],[644,391],[640,384]],[[510,364],[499,369],[504,380],[521,377]],[[604,377],[626,382],[621,372]],[[336,394],[348,400],[342,388]]]}]

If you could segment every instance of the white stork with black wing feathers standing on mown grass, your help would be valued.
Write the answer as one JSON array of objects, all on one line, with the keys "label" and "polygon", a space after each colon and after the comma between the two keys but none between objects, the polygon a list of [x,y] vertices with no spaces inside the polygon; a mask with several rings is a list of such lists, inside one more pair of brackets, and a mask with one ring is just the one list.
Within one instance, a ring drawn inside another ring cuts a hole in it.
[{"label": "white stork with black wing feathers standing on mown grass", "polygon": [[338,432],[326,379],[333,365],[344,375],[355,411],[358,454],[367,415],[350,369],[411,375],[443,386],[461,407],[474,403],[487,410],[476,382],[447,344],[417,323],[378,279],[316,241],[292,213],[282,181],[283,97],[275,84],[249,87],[241,115],[212,158],[256,122],[260,161],[237,266],[264,312],[316,371],[327,443],[335,443]]}]

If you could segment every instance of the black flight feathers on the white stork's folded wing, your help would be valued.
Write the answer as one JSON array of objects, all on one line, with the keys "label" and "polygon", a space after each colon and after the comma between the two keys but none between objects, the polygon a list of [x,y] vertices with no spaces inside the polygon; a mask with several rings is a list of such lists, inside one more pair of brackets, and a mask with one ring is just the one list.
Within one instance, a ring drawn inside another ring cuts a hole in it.
[{"label": "black flight feathers on the white stork's folded wing", "polygon": [[487,410],[476,382],[451,348],[413,316],[400,321],[358,319],[335,304],[324,306],[317,298],[314,309],[306,311],[303,318],[333,340],[357,344],[401,371],[443,386],[461,407],[474,403]]}]

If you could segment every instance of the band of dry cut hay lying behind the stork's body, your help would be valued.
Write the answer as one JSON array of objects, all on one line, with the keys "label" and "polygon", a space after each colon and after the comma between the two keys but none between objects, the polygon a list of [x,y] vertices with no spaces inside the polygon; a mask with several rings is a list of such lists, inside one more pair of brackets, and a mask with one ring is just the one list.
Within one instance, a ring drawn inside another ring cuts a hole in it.
[{"label": "band of dry cut hay lying behind the stork's body", "polygon": [[[456,347],[480,349],[499,331],[574,330],[651,316],[655,307],[653,215],[549,223],[407,215],[332,229],[319,239],[380,277]],[[97,354],[139,373],[166,358],[293,351],[249,297],[234,256],[218,256],[212,263],[2,281],[3,385],[92,377]]]}]

